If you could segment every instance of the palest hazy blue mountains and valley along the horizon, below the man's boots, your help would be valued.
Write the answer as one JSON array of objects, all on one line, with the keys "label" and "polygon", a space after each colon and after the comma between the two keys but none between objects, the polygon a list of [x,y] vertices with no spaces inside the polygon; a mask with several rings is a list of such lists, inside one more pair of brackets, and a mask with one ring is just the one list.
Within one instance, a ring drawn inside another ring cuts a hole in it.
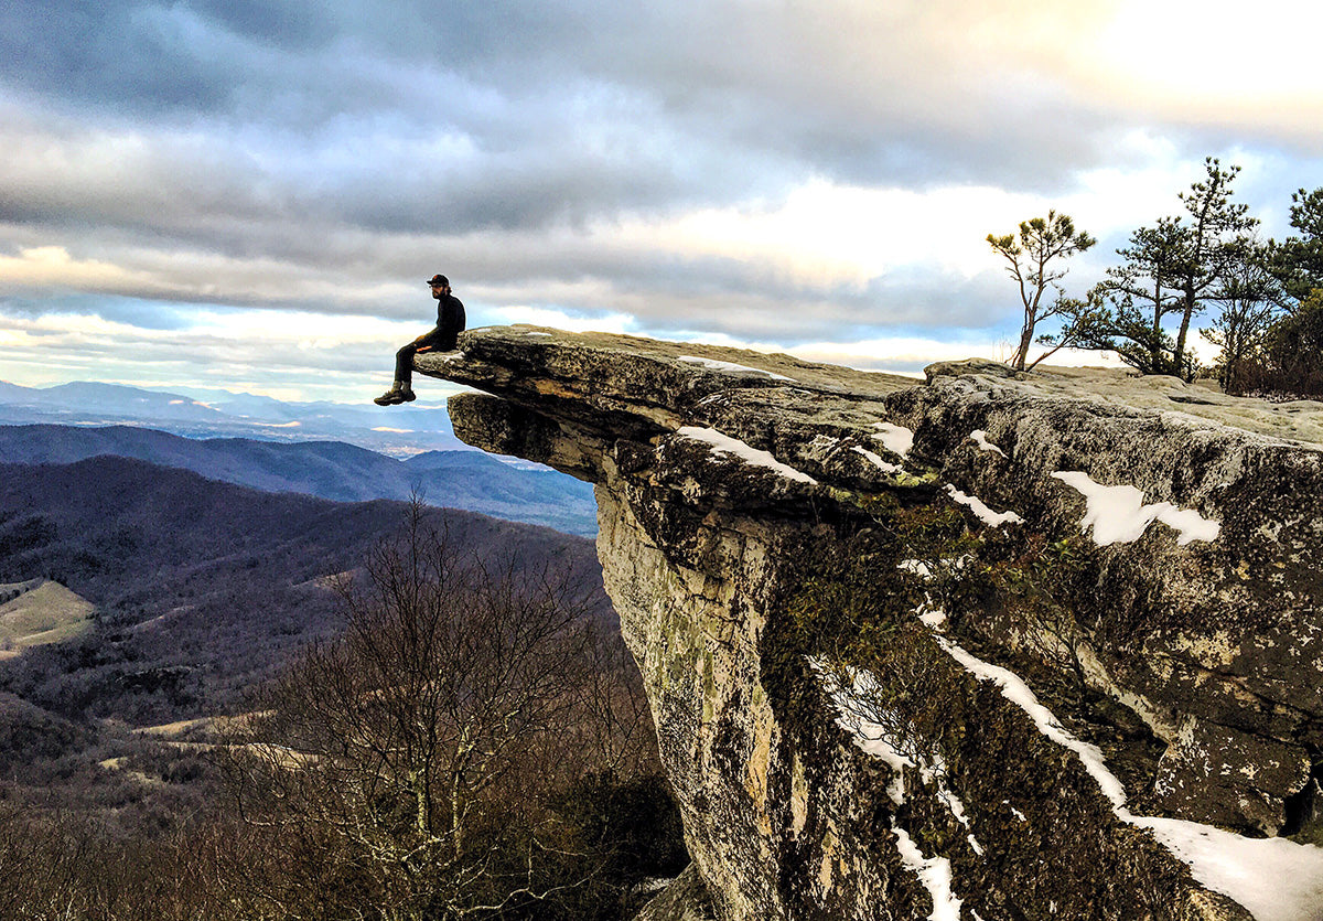
[{"label": "palest hazy blue mountains and valley along the horizon, below the man's boots", "polygon": [[136,425],[189,438],[343,441],[407,457],[472,450],[455,438],[445,406],[425,401],[393,406],[283,402],[250,393],[188,388],[187,393],[75,381],[30,388],[0,381],[0,425]]}]

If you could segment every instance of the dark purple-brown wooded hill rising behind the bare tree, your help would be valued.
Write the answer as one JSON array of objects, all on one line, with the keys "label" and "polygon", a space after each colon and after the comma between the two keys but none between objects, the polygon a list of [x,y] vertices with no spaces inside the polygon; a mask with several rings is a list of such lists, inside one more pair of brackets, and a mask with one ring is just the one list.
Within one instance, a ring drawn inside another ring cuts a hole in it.
[{"label": "dark purple-brown wooded hill rising behind the bare tree", "polygon": [[[404,513],[400,502],[261,492],[115,457],[0,464],[0,585],[54,580],[97,607],[95,630],[4,663],[0,689],[135,724],[216,712],[288,650],[337,630],[324,577],[360,566]],[[601,584],[590,540],[455,509],[430,520],[479,558]],[[605,599],[601,610],[611,617]]]}]

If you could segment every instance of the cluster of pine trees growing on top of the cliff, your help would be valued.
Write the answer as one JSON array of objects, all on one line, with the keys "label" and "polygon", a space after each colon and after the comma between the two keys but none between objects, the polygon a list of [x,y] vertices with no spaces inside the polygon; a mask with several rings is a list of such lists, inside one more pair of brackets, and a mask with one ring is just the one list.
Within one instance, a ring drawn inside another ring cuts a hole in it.
[{"label": "cluster of pine trees growing on top of the cliff", "polygon": [[[1019,241],[1013,234],[990,234],[992,249],[1011,262],[1025,311],[1012,365],[1027,369],[1033,324],[1058,319],[1058,329],[1039,336],[1050,351],[1037,361],[1073,347],[1114,352],[1142,374],[1193,380],[1212,371],[1233,394],[1323,396],[1323,352],[1312,306],[1323,291],[1323,188],[1291,196],[1297,236],[1262,241],[1254,236],[1258,220],[1233,201],[1238,173],[1238,165],[1222,167],[1207,157],[1204,177],[1179,195],[1184,213],[1136,229],[1117,250],[1121,265],[1109,267],[1086,296],[1066,298],[1058,291],[1046,310],[1043,290],[1064,275],[1064,270],[1049,270],[1048,259],[1086,249],[1091,238],[1078,234],[1085,245],[1069,249],[1073,225],[1053,212],[1046,220],[1021,224]],[[1221,352],[1204,369],[1189,337],[1195,320],[1211,307],[1216,312],[1200,332]]]}]

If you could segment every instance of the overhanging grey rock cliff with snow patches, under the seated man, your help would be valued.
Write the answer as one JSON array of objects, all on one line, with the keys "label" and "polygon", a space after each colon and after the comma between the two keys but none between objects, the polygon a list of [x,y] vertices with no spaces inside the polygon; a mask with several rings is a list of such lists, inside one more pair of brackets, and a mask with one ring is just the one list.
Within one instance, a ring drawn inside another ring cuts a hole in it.
[{"label": "overhanging grey rock cliff with snow patches, under the seated man", "polygon": [[[1273,437],[1311,406],[531,327],[418,371],[595,483],[695,861],[650,917],[1323,905],[1323,449]],[[1197,854],[1263,836],[1303,879]]]}]

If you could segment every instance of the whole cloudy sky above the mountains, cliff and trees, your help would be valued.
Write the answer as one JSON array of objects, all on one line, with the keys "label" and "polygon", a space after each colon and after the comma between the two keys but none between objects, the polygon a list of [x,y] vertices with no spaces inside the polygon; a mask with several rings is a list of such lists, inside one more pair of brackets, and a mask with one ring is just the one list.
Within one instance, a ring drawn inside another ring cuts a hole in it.
[{"label": "whole cloudy sky above the mountains, cliff and trees", "polygon": [[1216,155],[1289,233],[1320,9],[9,0],[0,380],[368,400],[435,271],[470,327],[1005,357],[988,232],[1072,214],[1082,291]]}]

